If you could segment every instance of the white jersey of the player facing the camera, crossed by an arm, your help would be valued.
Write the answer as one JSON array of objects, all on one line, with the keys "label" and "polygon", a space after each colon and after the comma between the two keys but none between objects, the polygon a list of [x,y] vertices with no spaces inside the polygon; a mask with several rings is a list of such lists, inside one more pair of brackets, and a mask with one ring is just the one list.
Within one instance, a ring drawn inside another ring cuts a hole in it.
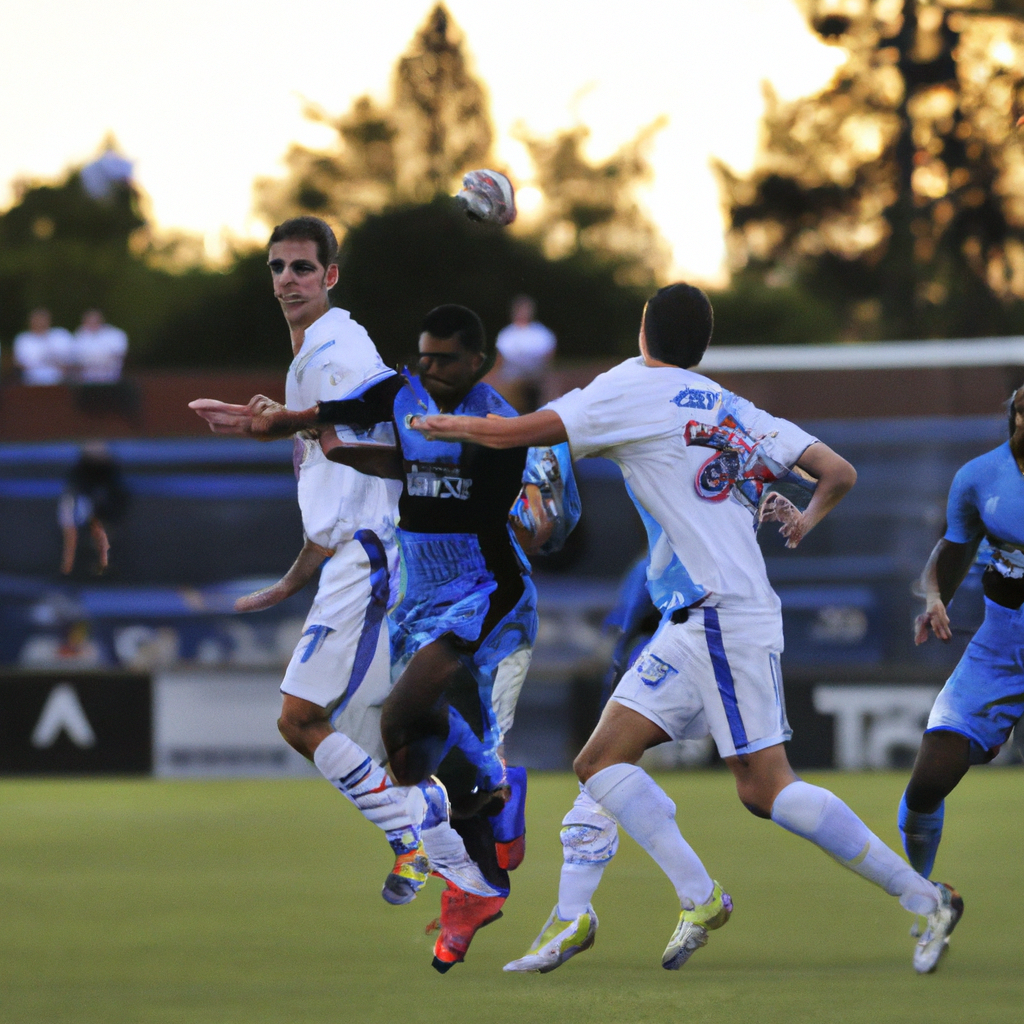
[{"label": "white jersey of the player facing the camera, crossed by an arm", "polygon": [[[345,309],[329,309],[306,329],[302,348],[288,368],[286,404],[309,409],[317,401],[354,397],[391,376],[366,330]],[[400,480],[384,480],[332,463],[319,442],[296,438],[299,508],[306,537],[336,549],[356,530],[370,529],[393,544]]]}]

